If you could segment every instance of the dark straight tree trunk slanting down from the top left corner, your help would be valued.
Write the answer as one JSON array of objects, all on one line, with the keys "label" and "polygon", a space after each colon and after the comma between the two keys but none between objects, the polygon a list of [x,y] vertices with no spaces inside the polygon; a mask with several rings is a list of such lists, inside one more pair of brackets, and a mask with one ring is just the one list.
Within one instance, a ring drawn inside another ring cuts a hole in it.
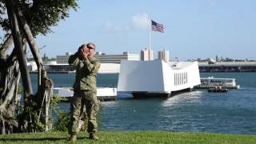
[{"label": "dark straight tree trunk slanting down from the top left corner", "polygon": [[6,9],[8,13],[8,17],[12,26],[12,35],[14,38],[14,49],[17,52],[18,63],[20,66],[21,74],[22,74],[22,84],[24,88],[24,96],[27,98],[29,95],[33,94],[30,75],[26,70],[26,56],[24,51],[22,50],[22,37],[18,28],[18,21],[16,18],[16,14],[14,13],[14,2],[13,0],[8,0],[6,2]]}]

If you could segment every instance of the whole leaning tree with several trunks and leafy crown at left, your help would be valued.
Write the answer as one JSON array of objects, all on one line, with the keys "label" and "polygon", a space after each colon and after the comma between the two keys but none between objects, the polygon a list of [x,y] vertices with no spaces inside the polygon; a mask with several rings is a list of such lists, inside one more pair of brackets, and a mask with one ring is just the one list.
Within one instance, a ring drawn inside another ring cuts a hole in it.
[{"label": "whole leaning tree with several trunks and leafy crown at left", "polygon": [[[77,0],[0,0],[0,134],[50,130],[53,82],[46,75],[34,38],[76,10]],[[14,48],[10,55],[6,52]],[[38,91],[33,93],[26,69],[26,44],[38,66]],[[23,104],[18,94],[22,79]],[[22,109],[20,108],[22,107]]]}]

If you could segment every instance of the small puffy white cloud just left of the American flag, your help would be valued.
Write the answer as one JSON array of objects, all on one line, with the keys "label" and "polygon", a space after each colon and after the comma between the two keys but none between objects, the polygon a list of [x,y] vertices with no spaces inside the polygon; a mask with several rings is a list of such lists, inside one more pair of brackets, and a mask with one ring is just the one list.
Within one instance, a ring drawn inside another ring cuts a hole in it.
[{"label": "small puffy white cloud just left of the American flag", "polygon": [[136,14],[132,16],[132,25],[138,29],[149,29],[150,27],[150,16],[146,13]]}]

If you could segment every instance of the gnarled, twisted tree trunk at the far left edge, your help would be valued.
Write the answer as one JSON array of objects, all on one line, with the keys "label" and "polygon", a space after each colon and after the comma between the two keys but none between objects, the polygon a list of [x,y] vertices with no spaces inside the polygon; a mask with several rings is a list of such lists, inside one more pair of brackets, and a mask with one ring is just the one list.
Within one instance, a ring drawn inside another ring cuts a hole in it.
[{"label": "gnarled, twisted tree trunk at the far left edge", "polygon": [[[2,75],[1,79],[1,83],[4,85],[1,87],[3,90],[0,102],[0,134],[10,134],[13,130],[18,130],[15,110],[20,99],[18,98],[20,72],[18,61],[14,60],[11,63],[1,70],[1,72],[6,71],[7,73]],[[3,78],[4,76],[5,78]]]}]

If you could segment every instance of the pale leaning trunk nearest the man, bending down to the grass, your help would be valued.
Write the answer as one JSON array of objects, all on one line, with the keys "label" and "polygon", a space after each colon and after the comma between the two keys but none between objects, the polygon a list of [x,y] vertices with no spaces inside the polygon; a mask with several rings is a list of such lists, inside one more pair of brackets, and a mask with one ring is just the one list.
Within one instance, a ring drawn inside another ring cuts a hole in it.
[{"label": "pale leaning trunk nearest the man, bending down to the grass", "polygon": [[[34,40],[33,34],[30,30],[30,26],[26,22],[26,18],[22,14],[22,10],[19,7],[15,7],[15,13],[18,18],[18,22],[22,25],[22,30],[26,36],[26,40],[30,46],[30,50],[33,54],[34,61],[38,66],[38,106],[40,107],[38,122],[41,122],[46,126],[46,131],[51,128],[51,107],[50,100],[53,96],[53,82],[46,75],[46,70],[42,66],[42,58],[38,52],[38,46]],[[38,107],[39,108],[39,107]]]}]

